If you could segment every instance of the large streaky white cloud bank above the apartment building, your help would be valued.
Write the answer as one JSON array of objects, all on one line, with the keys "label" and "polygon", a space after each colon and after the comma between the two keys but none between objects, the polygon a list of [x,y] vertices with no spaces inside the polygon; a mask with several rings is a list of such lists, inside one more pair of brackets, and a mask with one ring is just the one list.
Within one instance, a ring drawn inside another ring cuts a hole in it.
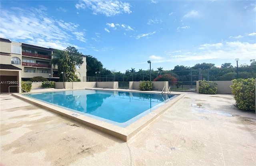
[{"label": "large streaky white cloud bank above the apartment building", "polygon": [[[1,10],[0,36],[14,41],[65,49],[74,46],[70,39],[86,42],[85,33],[78,30],[79,25],[49,17],[47,8],[10,8]],[[18,27],[18,29],[17,29]],[[78,46],[74,46],[78,49]]]}]

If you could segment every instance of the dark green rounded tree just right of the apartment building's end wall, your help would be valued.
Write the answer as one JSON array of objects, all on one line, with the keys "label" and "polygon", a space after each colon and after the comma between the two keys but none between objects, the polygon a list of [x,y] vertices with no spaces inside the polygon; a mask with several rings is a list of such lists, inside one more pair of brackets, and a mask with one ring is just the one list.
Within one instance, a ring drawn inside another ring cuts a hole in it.
[{"label": "dark green rounded tree just right of the apartment building's end wall", "polygon": [[103,65],[98,59],[91,55],[86,55],[87,76],[95,76],[95,72],[99,73],[103,70]]}]

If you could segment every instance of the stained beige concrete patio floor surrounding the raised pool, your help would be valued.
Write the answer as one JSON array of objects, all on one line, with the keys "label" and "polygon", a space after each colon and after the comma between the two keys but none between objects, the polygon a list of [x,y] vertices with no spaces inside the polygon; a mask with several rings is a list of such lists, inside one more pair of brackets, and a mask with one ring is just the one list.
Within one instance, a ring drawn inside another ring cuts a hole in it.
[{"label": "stained beige concrete patio floor surrounding the raised pool", "polygon": [[0,165],[256,165],[254,112],[229,94],[182,94],[128,142],[0,95]]}]

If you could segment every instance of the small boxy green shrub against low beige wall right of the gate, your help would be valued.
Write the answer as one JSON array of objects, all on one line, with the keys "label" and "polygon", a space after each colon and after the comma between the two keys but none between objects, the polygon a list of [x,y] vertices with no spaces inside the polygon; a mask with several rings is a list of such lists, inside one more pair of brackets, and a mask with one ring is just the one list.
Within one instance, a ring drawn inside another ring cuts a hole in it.
[{"label": "small boxy green shrub against low beige wall right of the gate", "polygon": [[217,94],[217,83],[213,81],[199,80],[200,94]]}]

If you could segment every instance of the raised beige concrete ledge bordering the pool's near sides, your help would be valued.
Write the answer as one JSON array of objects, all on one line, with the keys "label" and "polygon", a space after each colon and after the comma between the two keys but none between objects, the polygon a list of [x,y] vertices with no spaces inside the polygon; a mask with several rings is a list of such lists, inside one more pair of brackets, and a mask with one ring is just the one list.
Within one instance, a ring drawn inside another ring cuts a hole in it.
[{"label": "raised beige concrete ledge bordering the pool's near sides", "polygon": [[[133,91],[136,92],[136,91]],[[141,92],[141,91],[138,91]],[[148,92],[147,92],[148,93]],[[150,93],[150,92],[149,92]],[[151,92],[155,93],[155,92]],[[152,123],[158,116],[160,116],[164,111],[166,111],[168,108],[170,108],[173,104],[175,104],[178,100],[180,100],[184,95],[178,95],[175,98],[171,99],[166,104],[156,108],[151,113],[148,113],[147,115],[141,117],[137,121],[133,122],[132,124],[128,125],[127,127],[119,127],[104,121],[100,121],[98,119],[94,119],[92,117],[88,117],[86,115],[82,115],[80,113],[74,113],[73,111],[69,111],[67,109],[63,109],[51,104],[47,104],[45,102],[41,102],[38,100],[35,100],[33,98],[26,97],[22,94],[12,94],[13,96],[16,96],[17,98],[20,98],[26,102],[30,102],[31,104],[37,105],[39,107],[42,107],[44,109],[47,109],[49,111],[52,111],[54,113],[60,114],[62,116],[68,117],[74,121],[77,121],[79,123],[82,123],[84,125],[87,125],[89,127],[92,127],[94,129],[97,129],[99,131],[102,131],[104,133],[107,133],[109,135],[112,135],[114,137],[117,137],[119,139],[122,139],[123,141],[128,141],[134,135],[136,135],[138,132],[140,132],[144,127]]]}]

